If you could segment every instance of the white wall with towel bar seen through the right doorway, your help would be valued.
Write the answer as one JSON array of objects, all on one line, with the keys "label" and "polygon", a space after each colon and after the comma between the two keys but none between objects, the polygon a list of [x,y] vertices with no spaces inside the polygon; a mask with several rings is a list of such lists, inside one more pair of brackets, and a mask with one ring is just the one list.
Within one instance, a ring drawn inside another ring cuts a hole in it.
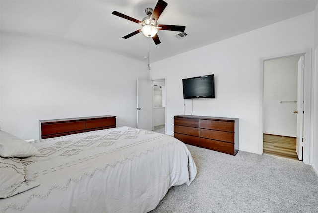
[{"label": "white wall with towel bar seen through the right doorway", "polygon": [[264,133],[296,137],[297,62],[300,56],[264,62]]}]

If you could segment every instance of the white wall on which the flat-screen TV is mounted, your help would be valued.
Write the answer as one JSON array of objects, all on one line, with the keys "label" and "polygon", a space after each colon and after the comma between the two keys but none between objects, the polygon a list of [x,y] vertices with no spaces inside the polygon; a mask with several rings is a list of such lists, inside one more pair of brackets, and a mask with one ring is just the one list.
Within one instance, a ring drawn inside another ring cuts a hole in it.
[{"label": "white wall on which the flat-screen TV is mounted", "polygon": [[[262,153],[262,63],[312,48],[314,12],[269,25],[152,64],[152,78],[166,76],[167,133],[183,114],[182,79],[215,74],[215,99],[193,101],[193,115],[240,119],[239,149]],[[186,101],[186,114],[191,101]]]}]

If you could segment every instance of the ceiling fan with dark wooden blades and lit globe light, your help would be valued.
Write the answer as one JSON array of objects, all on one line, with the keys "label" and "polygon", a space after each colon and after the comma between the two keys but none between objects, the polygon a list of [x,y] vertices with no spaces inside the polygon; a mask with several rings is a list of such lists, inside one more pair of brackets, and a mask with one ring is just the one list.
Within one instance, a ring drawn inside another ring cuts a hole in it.
[{"label": "ceiling fan with dark wooden blades and lit globe light", "polygon": [[142,32],[146,37],[152,37],[155,44],[160,44],[161,41],[157,35],[158,30],[170,30],[170,31],[178,31],[178,32],[184,32],[185,26],[177,26],[177,25],[164,25],[164,24],[157,24],[157,20],[165,7],[168,4],[163,0],[158,0],[155,9],[152,8],[146,8],[145,12],[148,16],[144,17],[142,21],[139,21],[135,18],[129,17],[127,15],[124,15],[120,12],[113,11],[113,15],[117,15],[121,18],[125,18],[127,20],[133,21],[135,23],[138,23],[142,26],[141,29],[136,30],[135,32],[132,32],[123,38],[127,39],[132,37],[133,35],[136,35],[140,32]]}]

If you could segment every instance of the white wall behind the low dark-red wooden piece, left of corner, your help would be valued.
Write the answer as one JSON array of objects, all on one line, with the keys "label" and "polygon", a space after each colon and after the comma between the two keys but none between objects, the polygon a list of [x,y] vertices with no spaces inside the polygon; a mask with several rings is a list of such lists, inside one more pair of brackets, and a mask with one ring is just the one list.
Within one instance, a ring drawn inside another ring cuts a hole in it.
[{"label": "white wall behind the low dark-red wooden piece, left of corner", "polygon": [[6,33],[0,51],[3,131],[37,139],[39,120],[98,115],[136,127],[136,78],[149,78],[145,63],[65,40]]}]

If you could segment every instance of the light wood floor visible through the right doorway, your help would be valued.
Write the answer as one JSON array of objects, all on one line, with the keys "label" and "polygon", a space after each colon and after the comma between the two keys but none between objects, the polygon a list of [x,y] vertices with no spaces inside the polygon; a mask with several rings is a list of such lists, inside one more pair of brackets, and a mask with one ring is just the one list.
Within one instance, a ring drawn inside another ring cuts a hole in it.
[{"label": "light wood floor visible through the right doorway", "polygon": [[296,138],[264,134],[263,153],[298,160]]}]

